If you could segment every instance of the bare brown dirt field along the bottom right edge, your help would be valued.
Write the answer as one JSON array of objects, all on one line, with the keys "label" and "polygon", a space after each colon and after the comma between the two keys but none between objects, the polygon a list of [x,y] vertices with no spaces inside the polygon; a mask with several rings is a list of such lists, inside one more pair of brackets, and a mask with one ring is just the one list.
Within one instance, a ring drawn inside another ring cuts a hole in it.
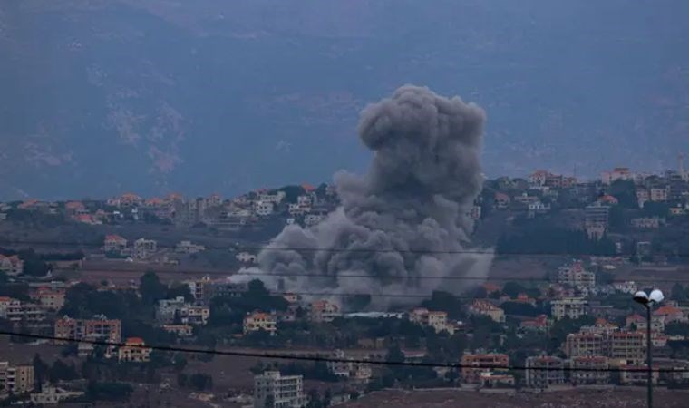
[{"label": "bare brown dirt field along the bottom right edge", "polygon": [[[664,408],[685,407],[689,392],[656,390],[654,403]],[[524,407],[645,407],[645,389],[618,388],[596,390],[581,388],[553,393],[478,393],[460,390],[432,391],[381,391],[355,402],[342,405],[346,408],[524,408]]]}]

